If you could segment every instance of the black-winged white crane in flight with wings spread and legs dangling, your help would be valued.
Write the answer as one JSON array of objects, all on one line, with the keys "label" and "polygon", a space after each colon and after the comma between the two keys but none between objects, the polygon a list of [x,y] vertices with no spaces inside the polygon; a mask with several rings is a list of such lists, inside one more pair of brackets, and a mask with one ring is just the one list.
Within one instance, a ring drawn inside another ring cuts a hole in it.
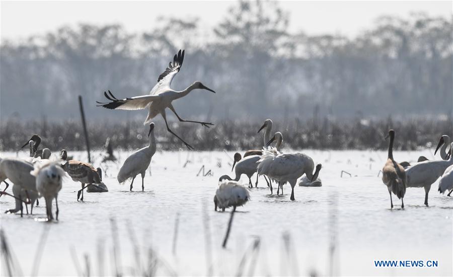
[{"label": "black-winged white crane in flight with wings spread and legs dangling", "polygon": [[105,97],[110,100],[109,103],[101,103],[97,102],[98,106],[102,106],[107,109],[117,109],[117,110],[141,110],[148,108],[148,115],[144,121],[144,125],[151,122],[151,120],[156,117],[158,114],[161,114],[165,120],[165,124],[167,125],[167,130],[176,136],[184,145],[189,148],[193,149],[188,143],[186,143],[181,137],[179,137],[176,133],[174,133],[170,127],[168,126],[167,116],[165,113],[165,109],[169,108],[175,115],[178,117],[179,121],[182,122],[193,122],[199,123],[202,126],[208,127],[209,125],[214,125],[209,122],[202,122],[202,121],[194,121],[194,120],[185,120],[182,119],[177,113],[175,108],[172,105],[172,102],[176,99],[182,98],[189,94],[194,89],[203,89],[208,90],[210,92],[215,93],[215,91],[209,89],[208,87],[201,84],[201,82],[194,82],[192,85],[187,87],[183,91],[175,91],[171,89],[170,85],[172,83],[173,78],[179,72],[181,65],[184,60],[184,50],[181,52],[179,50],[178,54],[175,55],[173,58],[173,62],[170,62],[166,70],[159,76],[158,83],[154,88],[149,92],[149,95],[142,95],[142,96],[134,96],[131,98],[125,99],[117,99],[113,94],[109,91],[108,95],[104,92]]}]

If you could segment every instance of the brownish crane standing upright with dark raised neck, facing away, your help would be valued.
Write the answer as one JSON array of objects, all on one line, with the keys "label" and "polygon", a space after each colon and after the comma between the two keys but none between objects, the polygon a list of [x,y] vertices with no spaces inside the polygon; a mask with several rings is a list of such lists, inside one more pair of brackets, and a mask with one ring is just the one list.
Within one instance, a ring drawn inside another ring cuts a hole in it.
[{"label": "brownish crane standing upright with dark raised neck, facing away", "polygon": [[393,159],[393,141],[395,140],[395,131],[389,130],[389,134],[386,139],[390,136],[389,143],[389,154],[387,162],[382,169],[382,181],[389,189],[390,193],[390,206],[393,209],[392,192],[401,199],[401,207],[404,208],[404,194],[406,193],[407,176],[404,168]]}]

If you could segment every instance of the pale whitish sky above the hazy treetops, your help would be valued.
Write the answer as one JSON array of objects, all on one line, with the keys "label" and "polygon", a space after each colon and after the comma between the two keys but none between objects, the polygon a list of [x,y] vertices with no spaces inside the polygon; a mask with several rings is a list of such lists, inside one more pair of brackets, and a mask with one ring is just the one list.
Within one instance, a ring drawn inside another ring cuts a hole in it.
[{"label": "pale whitish sky above the hazy treetops", "polygon": [[[237,4],[234,1],[2,1],[0,31],[2,39],[13,40],[77,23],[119,23],[129,32],[143,32],[153,26],[157,17],[166,15],[199,17],[200,26],[210,29],[233,5]],[[449,20],[452,14],[451,1],[281,1],[279,5],[290,14],[288,31],[304,30],[310,35],[336,33],[352,37],[383,14],[407,17],[410,12],[423,11]]]}]

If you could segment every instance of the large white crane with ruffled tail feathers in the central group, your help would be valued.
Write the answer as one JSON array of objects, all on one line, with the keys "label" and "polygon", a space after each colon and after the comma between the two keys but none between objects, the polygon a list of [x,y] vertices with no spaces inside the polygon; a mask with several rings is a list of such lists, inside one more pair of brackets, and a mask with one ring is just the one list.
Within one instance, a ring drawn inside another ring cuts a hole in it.
[{"label": "large white crane with ruffled tail feathers in the central group", "polygon": [[303,153],[279,154],[273,151],[264,151],[258,164],[258,174],[267,175],[278,181],[278,186],[288,182],[291,185],[291,200],[294,200],[294,186],[297,179],[306,174],[309,179],[316,180],[321,164],[316,165],[313,159]]}]

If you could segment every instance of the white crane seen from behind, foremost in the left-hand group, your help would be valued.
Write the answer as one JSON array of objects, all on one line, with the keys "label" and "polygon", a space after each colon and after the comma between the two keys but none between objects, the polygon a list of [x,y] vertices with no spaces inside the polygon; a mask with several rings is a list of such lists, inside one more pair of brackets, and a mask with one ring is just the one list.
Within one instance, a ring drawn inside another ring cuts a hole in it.
[{"label": "white crane seen from behind, foremost in the left-hand group", "polygon": [[52,201],[55,198],[55,216],[58,220],[58,192],[61,190],[64,170],[58,162],[47,162],[35,165],[35,169],[30,173],[36,177],[36,189],[46,201],[47,219],[53,220]]}]

